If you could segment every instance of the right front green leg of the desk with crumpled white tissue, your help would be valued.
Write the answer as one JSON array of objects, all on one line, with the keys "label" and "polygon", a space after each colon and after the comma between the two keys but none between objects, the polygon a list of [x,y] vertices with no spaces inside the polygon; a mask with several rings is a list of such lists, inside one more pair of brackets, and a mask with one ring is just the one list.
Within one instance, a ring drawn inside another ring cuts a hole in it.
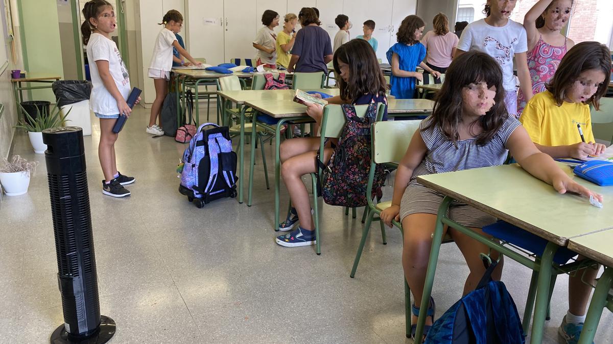
[{"label": "right front green leg of the desk with crumpled white tissue", "polygon": [[545,316],[549,305],[552,264],[554,263],[554,255],[558,248],[558,245],[549,242],[545,247],[543,256],[541,256],[541,267],[536,284],[535,315],[532,321],[532,334],[530,336],[530,343],[533,344],[543,342],[543,327],[545,326]]}]

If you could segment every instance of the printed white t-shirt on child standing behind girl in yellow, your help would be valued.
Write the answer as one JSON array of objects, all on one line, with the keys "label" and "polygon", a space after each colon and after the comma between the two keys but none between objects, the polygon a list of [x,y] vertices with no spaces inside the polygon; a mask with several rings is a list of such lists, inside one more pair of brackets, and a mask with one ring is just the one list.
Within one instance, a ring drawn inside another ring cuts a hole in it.
[{"label": "printed white t-shirt on child standing behind girl in yellow", "polygon": [[505,26],[497,28],[485,23],[485,19],[474,21],[462,31],[457,48],[479,50],[492,56],[502,67],[504,90],[516,90],[513,56],[528,51],[526,29],[522,24],[509,19]]}]

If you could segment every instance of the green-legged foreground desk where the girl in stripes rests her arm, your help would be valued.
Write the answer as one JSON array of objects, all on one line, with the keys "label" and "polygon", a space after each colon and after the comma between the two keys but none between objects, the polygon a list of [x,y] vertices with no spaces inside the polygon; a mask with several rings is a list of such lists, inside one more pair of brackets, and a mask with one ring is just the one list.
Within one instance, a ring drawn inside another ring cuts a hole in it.
[{"label": "green-legged foreground desk where the girl in stripes rests her arm", "polygon": [[[607,204],[606,202],[606,200],[613,200],[613,188],[599,187],[575,176],[565,164],[558,163],[558,165],[574,181],[601,193],[605,200],[604,208],[596,208],[588,203],[585,198],[577,195],[560,195],[551,185],[534,178],[517,164],[430,174],[417,178],[420,184],[445,195],[436,219],[436,230],[428,261],[421,309],[428,308],[443,225],[449,225],[482,244],[503,253],[512,260],[539,271],[530,340],[531,343],[541,343],[555,252],[559,247],[568,245],[571,238],[613,227],[611,211],[610,209],[607,210],[607,207],[610,208],[613,203]],[[474,233],[446,217],[447,208],[452,200],[470,204],[474,208],[492,214],[500,220],[516,225],[549,241],[543,256],[541,256],[540,263],[530,260],[527,256],[485,236]],[[417,337],[421,337],[424,323],[425,312],[419,316],[417,322]]]}]

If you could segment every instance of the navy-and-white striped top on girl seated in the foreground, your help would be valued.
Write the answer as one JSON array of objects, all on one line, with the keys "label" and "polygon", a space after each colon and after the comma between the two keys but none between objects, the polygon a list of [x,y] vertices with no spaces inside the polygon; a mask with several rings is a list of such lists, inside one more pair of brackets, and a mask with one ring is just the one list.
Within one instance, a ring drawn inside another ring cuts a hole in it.
[{"label": "navy-and-white striped top on girl seated in the foreground", "polygon": [[424,174],[502,165],[509,152],[506,148],[506,142],[513,130],[521,125],[517,118],[509,116],[492,137],[492,140],[484,146],[479,146],[477,138],[457,141],[454,144],[443,133],[438,124],[433,129],[421,131],[433,120],[432,116],[428,116],[419,125],[428,152],[424,156],[424,160],[413,171],[411,181]]}]

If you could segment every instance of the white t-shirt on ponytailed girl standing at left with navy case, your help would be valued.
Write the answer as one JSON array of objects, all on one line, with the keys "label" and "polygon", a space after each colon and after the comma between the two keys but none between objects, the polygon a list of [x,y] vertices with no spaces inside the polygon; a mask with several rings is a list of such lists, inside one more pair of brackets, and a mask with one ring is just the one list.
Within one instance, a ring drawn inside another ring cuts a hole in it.
[{"label": "white t-shirt on ponytailed girl standing at left with navy case", "polygon": [[87,59],[89,61],[89,72],[91,73],[91,96],[89,97],[89,107],[92,111],[99,114],[113,115],[118,114],[117,101],[105,88],[98,66],[95,61],[109,61],[109,72],[117,89],[123,95],[124,99],[128,99],[130,94],[130,77],[128,69],[121,59],[117,45],[113,40],[102,36],[101,34],[91,34],[87,43]]}]

